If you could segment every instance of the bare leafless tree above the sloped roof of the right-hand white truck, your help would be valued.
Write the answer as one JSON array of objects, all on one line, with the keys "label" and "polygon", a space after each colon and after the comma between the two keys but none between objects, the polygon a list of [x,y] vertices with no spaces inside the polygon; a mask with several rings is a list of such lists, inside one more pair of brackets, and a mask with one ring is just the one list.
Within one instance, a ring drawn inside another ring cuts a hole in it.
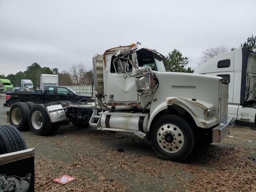
[{"label": "bare leafless tree above the sloped roof of the right-hand white truck", "polygon": [[202,66],[206,61],[214,56],[220,55],[222,53],[230,51],[230,48],[226,45],[220,45],[218,47],[210,47],[205,51],[202,51],[199,62],[197,63],[196,68]]}]

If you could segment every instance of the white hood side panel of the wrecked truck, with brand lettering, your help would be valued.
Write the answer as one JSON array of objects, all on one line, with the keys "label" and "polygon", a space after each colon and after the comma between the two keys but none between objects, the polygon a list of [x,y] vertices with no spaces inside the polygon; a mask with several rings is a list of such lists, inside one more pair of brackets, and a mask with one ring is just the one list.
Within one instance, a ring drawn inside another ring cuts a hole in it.
[{"label": "white hood side panel of the wrecked truck, with brand lettering", "polygon": [[155,75],[159,81],[156,93],[195,98],[210,103],[212,100],[218,100],[220,77],[177,72],[157,72]]}]

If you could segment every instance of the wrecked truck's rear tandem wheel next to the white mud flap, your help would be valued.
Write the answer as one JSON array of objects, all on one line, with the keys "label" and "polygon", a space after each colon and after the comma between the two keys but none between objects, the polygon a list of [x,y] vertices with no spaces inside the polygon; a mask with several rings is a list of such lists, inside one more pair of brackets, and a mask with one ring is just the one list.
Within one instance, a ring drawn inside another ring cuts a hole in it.
[{"label": "wrecked truck's rear tandem wheel next to the white mud flap", "polygon": [[46,136],[58,130],[60,123],[52,123],[44,104],[35,104],[29,113],[30,130],[37,135]]}]

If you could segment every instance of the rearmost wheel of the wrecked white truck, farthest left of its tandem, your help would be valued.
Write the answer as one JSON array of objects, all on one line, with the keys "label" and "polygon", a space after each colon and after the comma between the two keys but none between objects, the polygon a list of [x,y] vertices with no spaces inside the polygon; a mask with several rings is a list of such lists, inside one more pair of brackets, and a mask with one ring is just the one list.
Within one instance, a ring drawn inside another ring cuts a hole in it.
[{"label": "rearmost wheel of the wrecked white truck, farthest left of its tandem", "polygon": [[29,108],[24,102],[16,102],[10,108],[10,124],[19,131],[28,130]]}]

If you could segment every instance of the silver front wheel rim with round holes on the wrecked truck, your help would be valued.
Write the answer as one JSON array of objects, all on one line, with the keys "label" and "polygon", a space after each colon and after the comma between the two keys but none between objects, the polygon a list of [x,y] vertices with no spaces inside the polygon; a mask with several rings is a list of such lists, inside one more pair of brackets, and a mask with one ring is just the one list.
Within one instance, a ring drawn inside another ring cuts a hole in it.
[{"label": "silver front wheel rim with round holes on the wrecked truck", "polygon": [[184,135],[174,124],[164,124],[158,128],[157,142],[168,153],[178,152],[184,144]]}]

